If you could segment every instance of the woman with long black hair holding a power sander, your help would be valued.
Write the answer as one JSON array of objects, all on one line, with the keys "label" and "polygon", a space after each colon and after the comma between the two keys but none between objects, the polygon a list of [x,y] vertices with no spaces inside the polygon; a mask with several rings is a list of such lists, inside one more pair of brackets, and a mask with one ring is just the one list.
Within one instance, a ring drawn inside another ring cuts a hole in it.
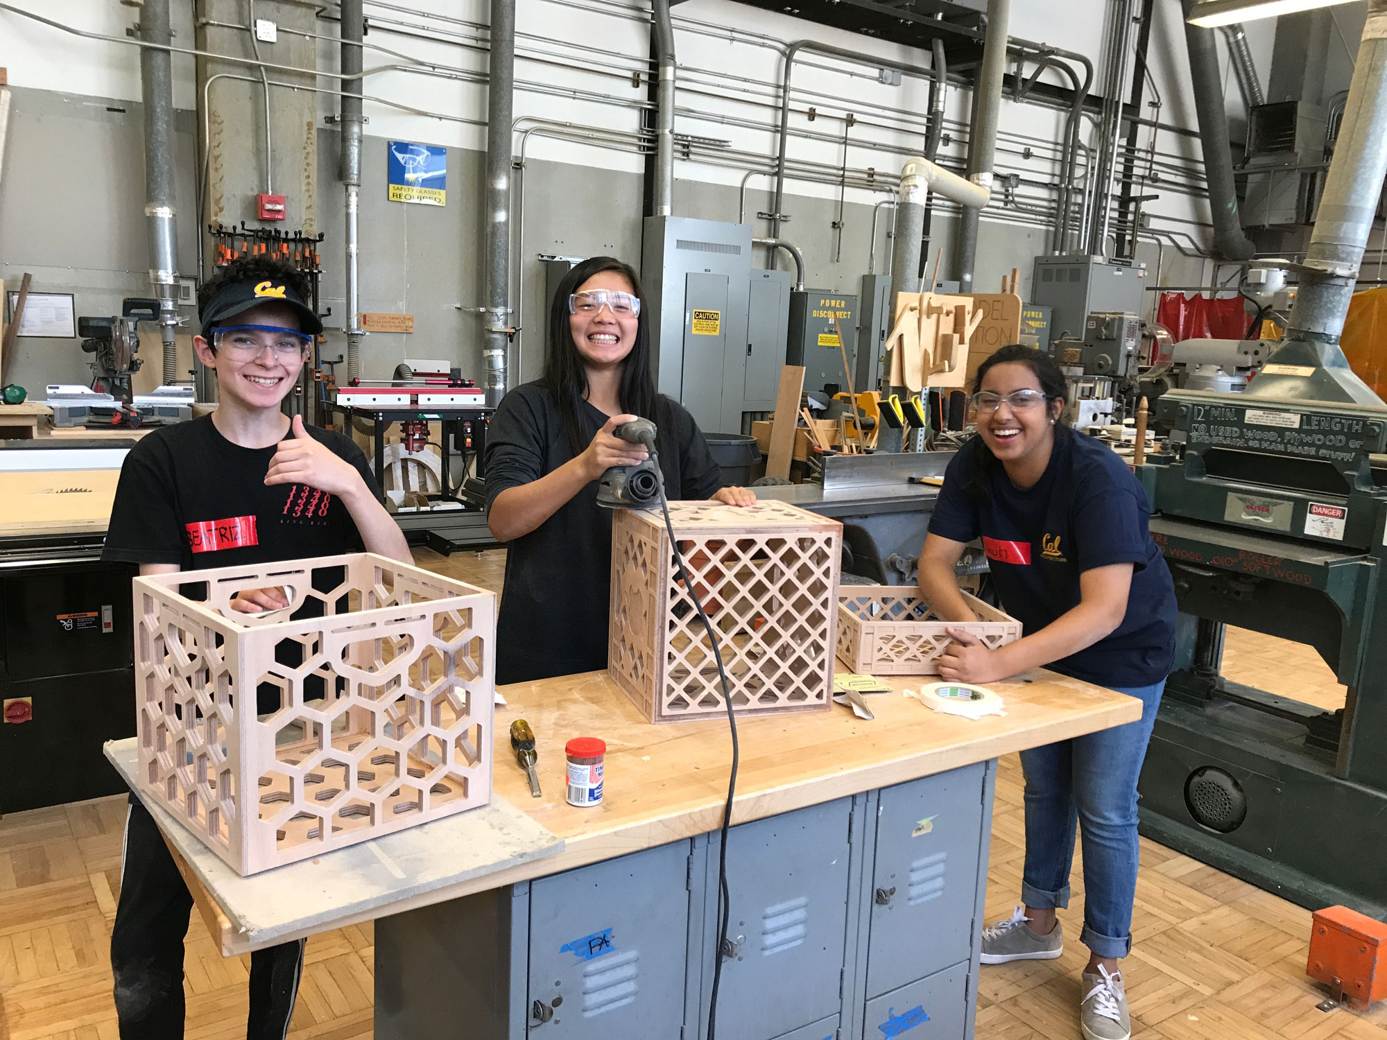
[{"label": "woman with long black hair holding a power sander", "polygon": [[655,391],[644,302],[641,279],[619,259],[573,268],[549,309],[544,374],[506,394],[487,430],[487,523],[509,544],[498,682],[606,667],[612,512],[596,503],[596,481],[648,456],[617,426],[655,423],[670,499],[756,501],[721,485],[694,416]]}]

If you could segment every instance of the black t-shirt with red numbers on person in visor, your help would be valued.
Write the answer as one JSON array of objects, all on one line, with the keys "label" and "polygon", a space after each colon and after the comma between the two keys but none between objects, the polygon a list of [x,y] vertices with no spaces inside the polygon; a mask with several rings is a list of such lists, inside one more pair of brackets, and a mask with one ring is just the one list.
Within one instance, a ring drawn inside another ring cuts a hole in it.
[{"label": "black t-shirt with red numbers on person in visor", "polygon": [[[308,433],[376,492],[351,438],[312,426]],[[147,434],[125,456],[101,559],[208,570],[361,552],[356,524],[334,495],[265,484],[273,458],[275,445],[232,444],[211,416]]]}]

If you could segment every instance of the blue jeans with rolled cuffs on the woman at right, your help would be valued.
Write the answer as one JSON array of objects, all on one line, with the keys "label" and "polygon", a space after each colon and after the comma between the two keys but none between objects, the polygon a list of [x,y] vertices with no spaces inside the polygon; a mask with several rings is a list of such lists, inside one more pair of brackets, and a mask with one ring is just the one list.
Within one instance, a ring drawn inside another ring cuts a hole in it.
[{"label": "blue jeans with rolled cuffs on the woman at right", "polygon": [[1132,950],[1136,897],[1136,778],[1151,739],[1165,679],[1114,686],[1142,702],[1142,718],[1072,740],[1021,752],[1025,774],[1026,864],[1021,899],[1028,907],[1069,905],[1074,826],[1083,835],[1083,932],[1099,957]]}]

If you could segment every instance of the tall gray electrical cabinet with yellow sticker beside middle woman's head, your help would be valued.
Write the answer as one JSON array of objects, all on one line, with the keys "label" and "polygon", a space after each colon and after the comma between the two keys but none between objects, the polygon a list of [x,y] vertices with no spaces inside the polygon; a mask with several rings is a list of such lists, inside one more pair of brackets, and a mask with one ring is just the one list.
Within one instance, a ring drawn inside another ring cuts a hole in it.
[{"label": "tall gray electrical cabinet with yellow sticker beside middle woman's head", "polygon": [[706,433],[742,428],[752,229],[648,216],[641,280],[655,384]]}]

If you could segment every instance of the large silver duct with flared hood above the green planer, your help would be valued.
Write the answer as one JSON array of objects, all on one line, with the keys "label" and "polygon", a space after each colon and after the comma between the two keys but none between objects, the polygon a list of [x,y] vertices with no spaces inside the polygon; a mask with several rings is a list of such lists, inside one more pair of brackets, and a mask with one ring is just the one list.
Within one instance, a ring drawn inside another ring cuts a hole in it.
[{"label": "large silver duct with flared hood above the green planer", "polygon": [[[1325,177],[1286,337],[1247,397],[1383,401],[1354,374],[1338,347],[1368,233],[1387,179],[1387,0],[1372,0],[1348,86],[1344,122]],[[1282,366],[1272,369],[1272,365]],[[1313,369],[1311,373],[1309,369]]]}]

